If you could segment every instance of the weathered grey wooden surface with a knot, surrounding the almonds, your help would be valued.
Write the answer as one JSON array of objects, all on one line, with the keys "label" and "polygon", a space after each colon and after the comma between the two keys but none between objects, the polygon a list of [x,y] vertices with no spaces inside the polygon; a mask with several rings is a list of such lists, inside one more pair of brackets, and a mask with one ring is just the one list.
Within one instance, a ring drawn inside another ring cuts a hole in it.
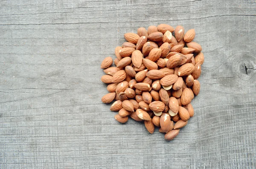
[{"label": "weathered grey wooden surface with a knot, surrounding the almonds", "polygon": [[[195,28],[205,55],[170,142],[100,100],[102,59],[160,23]],[[255,35],[255,0],[1,0],[0,168],[255,168]]]}]

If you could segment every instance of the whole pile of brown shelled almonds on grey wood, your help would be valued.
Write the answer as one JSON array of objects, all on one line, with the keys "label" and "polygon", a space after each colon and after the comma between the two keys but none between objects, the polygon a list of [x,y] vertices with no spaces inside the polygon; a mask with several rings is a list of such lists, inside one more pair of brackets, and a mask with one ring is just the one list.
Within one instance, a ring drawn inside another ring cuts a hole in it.
[{"label": "whole pile of brown shelled almonds on grey wood", "polygon": [[111,67],[111,57],[102,61],[106,75],[101,80],[110,92],[102,102],[116,100],[110,110],[119,111],[115,119],[120,123],[130,116],[144,121],[150,133],[160,127],[165,139],[172,140],[194,115],[191,101],[200,91],[197,79],[204,54],[201,45],[192,42],[195,30],[185,33],[183,26],[160,24],[124,37],[128,42],[115,49],[116,67]]}]

